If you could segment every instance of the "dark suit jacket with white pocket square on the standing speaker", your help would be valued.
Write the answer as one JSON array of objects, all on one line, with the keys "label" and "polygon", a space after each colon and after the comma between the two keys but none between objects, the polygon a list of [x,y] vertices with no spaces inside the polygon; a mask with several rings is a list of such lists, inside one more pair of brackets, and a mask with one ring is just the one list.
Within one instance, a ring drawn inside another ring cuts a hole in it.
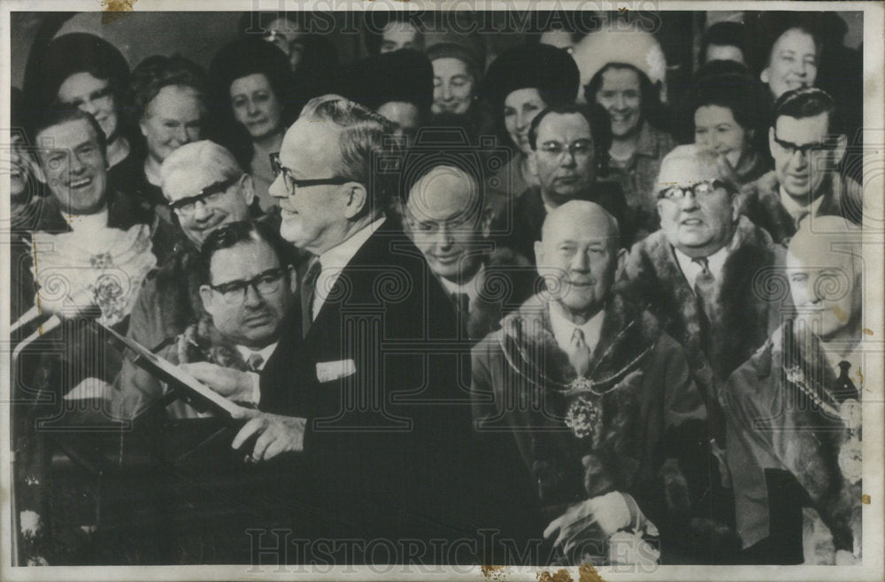
[{"label": "dark suit jacket with white pocket square on the standing speaker", "polygon": [[[300,329],[288,326],[262,371],[259,404],[308,419],[285,486],[297,500],[296,537],[475,535],[486,495],[472,478],[469,374],[458,385],[457,372],[469,370],[469,345],[456,340],[449,299],[392,221],[342,269],[306,337]],[[464,549],[423,558],[464,561]],[[403,559],[359,548],[337,557]]]}]

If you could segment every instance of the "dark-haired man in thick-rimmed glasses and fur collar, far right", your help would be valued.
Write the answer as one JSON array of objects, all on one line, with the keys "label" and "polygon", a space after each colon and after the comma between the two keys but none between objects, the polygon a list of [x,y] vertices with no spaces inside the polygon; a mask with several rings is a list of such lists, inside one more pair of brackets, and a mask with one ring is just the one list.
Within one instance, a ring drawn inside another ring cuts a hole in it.
[{"label": "dark-haired man in thick-rimmed glasses and fur collar, far right", "polygon": [[826,92],[809,87],[784,93],[774,105],[768,140],[774,170],[743,189],[743,213],[775,241],[789,240],[809,216],[863,221],[863,191],[837,169],[847,139]]}]

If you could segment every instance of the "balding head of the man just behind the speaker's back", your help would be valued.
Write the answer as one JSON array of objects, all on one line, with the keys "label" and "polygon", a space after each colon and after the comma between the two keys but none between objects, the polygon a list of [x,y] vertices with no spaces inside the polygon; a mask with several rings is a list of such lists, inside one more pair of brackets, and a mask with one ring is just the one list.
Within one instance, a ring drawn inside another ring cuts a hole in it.
[{"label": "balding head of the man just behind the speaker's back", "polygon": [[480,182],[459,167],[431,167],[409,189],[405,225],[435,275],[469,281],[489,237]]}]

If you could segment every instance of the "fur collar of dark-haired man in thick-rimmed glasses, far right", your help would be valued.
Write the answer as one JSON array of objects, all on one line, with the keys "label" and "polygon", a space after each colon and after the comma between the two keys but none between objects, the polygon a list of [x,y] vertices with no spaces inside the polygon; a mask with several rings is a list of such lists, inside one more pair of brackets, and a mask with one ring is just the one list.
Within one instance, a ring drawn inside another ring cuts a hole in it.
[{"label": "fur collar of dark-haired man in thick-rimmed glasses, far right", "polygon": [[[820,184],[824,197],[816,216],[842,216],[860,224],[864,219],[864,195],[858,182],[848,176],[832,173]],[[766,229],[775,242],[787,244],[796,234],[798,225],[781,204],[781,182],[777,173],[762,175],[756,182],[743,187],[741,213],[759,227]]]}]

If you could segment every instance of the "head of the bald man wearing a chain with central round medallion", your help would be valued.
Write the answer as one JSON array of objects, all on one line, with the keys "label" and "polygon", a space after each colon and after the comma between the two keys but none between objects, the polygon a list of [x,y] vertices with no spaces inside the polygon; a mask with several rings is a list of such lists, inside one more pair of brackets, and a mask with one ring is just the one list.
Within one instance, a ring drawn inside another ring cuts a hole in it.
[{"label": "head of the bald man wearing a chain with central round medallion", "polygon": [[593,202],[573,200],[547,214],[535,243],[538,273],[575,322],[604,306],[627,256],[618,241],[618,221]]}]

